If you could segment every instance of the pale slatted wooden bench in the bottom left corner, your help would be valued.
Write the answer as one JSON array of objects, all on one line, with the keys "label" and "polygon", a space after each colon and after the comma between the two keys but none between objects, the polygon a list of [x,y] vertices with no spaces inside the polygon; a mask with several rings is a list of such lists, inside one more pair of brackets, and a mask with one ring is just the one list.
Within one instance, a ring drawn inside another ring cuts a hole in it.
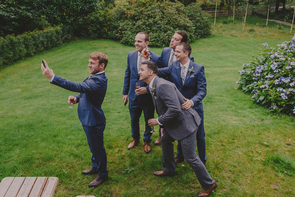
[{"label": "pale slatted wooden bench in the bottom left corner", "polygon": [[0,197],[52,197],[57,184],[57,177],[5,177]]}]

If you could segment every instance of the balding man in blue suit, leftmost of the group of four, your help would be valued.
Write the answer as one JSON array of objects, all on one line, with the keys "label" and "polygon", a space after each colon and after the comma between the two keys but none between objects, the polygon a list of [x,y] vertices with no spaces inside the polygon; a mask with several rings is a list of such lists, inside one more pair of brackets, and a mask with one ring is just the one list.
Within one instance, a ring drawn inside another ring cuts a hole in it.
[{"label": "balding man in blue suit, leftmost of the group of four", "polygon": [[[129,101],[129,112],[131,118],[131,133],[132,141],[128,145],[128,149],[136,146],[140,141],[139,118],[143,111],[145,117],[145,132],[143,134],[144,151],[146,153],[151,151],[150,142],[152,141],[152,133],[148,125],[149,118],[154,118],[155,107],[150,92],[148,91],[148,84],[139,80],[138,71],[145,59],[142,57],[142,50],[148,47],[150,43],[150,36],[146,32],[139,32],[135,36],[136,51],[128,53],[127,68],[124,76],[123,86],[123,102]],[[148,61],[156,62],[159,56],[152,51]],[[140,88],[135,90],[136,82],[140,82]],[[135,93],[139,95],[135,95]],[[127,99],[129,97],[129,100]]]}]

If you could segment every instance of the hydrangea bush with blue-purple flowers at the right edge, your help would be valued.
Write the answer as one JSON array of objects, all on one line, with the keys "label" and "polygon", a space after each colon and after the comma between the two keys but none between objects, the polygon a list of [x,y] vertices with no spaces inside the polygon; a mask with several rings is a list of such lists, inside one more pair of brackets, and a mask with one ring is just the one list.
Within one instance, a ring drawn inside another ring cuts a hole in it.
[{"label": "hydrangea bush with blue-purple flowers at the right edge", "polygon": [[271,111],[295,115],[295,34],[277,48],[261,45],[262,56],[243,64],[237,86]]}]

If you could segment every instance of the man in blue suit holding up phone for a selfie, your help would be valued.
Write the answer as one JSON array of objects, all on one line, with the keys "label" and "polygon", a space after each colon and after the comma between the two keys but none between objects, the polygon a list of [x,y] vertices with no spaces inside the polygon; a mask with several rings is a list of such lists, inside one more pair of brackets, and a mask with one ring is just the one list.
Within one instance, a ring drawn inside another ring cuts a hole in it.
[{"label": "man in blue suit holding up phone for a selfie", "polygon": [[[108,178],[108,169],[106,168],[106,151],[104,149],[104,129],[106,127],[106,118],[101,104],[106,95],[108,78],[104,69],[108,64],[108,57],[101,52],[93,52],[89,55],[89,73],[87,79],[81,83],[75,83],[63,79],[53,73],[48,68],[46,61],[45,67],[42,65],[43,75],[50,80],[50,83],[64,89],[80,92],[75,96],[74,103],[78,105],[78,117],[86,133],[88,145],[92,153],[92,167],[82,171],[82,174],[98,173],[97,177],[89,183],[89,187],[99,185]],[[70,97],[68,98],[70,102]]]}]

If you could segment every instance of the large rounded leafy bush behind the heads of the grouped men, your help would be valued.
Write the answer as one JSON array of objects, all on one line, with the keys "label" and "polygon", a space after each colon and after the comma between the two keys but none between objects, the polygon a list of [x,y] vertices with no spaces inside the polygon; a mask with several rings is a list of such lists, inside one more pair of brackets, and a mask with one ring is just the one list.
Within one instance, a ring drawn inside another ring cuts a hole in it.
[{"label": "large rounded leafy bush behind the heads of the grouped men", "polygon": [[[133,45],[135,35],[141,31],[150,35],[150,45],[160,47],[169,45],[175,30],[185,31],[189,42],[211,33],[209,15],[197,4],[184,6],[167,0],[121,0],[115,1],[115,5],[105,14],[104,24],[93,20],[91,27],[97,27],[97,32],[105,32],[102,37],[120,40],[124,44]],[[91,31],[95,32],[95,28]]]}]

